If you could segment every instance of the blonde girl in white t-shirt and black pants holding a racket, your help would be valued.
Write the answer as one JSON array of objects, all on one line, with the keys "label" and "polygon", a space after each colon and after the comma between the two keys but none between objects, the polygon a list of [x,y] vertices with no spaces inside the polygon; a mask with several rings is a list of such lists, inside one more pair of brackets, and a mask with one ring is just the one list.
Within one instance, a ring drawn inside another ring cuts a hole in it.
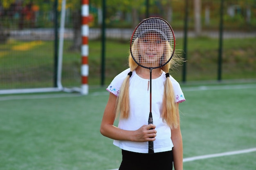
[{"label": "blonde girl in white t-shirt and black pants holding a racket", "polygon": [[[164,52],[171,47],[162,34],[161,28],[145,31],[133,44],[133,48],[137,46],[140,51],[139,60],[146,62],[147,67],[159,64],[162,56],[170,54]],[[157,41],[157,45],[152,45],[155,43],[150,42],[151,37],[156,37],[153,41]],[[100,131],[114,139],[113,144],[122,150],[119,170],[172,170],[173,165],[175,170],[183,169],[179,103],[185,98],[178,82],[168,73],[179,60],[179,56],[174,55],[163,67],[152,69],[153,124],[148,124],[148,68],[136,64],[130,54],[130,68],[117,75],[108,86],[110,95]],[[118,127],[113,125],[117,117]],[[153,141],[153,154],[148,153],[148,141]]]}]

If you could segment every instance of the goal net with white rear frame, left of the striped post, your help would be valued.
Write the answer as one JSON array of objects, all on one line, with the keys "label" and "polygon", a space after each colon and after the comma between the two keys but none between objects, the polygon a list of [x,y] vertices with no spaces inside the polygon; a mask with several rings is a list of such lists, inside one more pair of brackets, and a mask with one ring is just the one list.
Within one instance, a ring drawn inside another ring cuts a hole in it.
[{"label": "goal net with white rear frame, left of the striped post", "polygon": [[[66,11],[68,15],[60,13],[55,20],[52,7],[52,1],[44,5],[0,2],[0,94],[80,86],[81,55],[69,51],[72,18]],[[65,32],[59,27],[64,19]]]}]

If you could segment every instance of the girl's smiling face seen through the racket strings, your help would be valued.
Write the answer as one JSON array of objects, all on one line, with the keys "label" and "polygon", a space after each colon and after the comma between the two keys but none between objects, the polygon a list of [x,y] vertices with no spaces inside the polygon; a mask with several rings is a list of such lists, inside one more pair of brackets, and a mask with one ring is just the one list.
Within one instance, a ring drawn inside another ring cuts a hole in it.
[{"label": "girl's smiling face seen through the racket strings", "polygon": [[164,54],[165,42],[158,33],[147,33],[139,41],[140,62],[143,66],[157,67]]}]

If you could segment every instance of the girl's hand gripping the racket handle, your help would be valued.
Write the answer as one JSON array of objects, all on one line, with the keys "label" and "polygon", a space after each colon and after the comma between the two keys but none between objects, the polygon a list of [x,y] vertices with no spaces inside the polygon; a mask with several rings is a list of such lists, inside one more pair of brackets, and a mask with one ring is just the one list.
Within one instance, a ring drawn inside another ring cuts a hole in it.
[{"label": "girl's hand gripping the racket handle", "polygon": [[134,140],[138,142],[154,141],[157,136],[154,124],[141,126],[138,130],[134,131]]}]

